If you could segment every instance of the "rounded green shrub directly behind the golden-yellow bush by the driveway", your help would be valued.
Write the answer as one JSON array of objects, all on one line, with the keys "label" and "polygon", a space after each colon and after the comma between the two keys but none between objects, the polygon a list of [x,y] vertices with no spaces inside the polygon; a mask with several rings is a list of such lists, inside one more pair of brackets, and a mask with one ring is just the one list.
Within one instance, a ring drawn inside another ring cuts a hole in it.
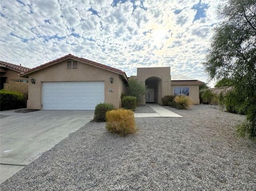
[{"label": "rounded green shrub directly behind the golden-yellow bush by the driveway", "polygon": [[93,121],[104,122],[106,121],[106,112],[115,109],[111,103],[98,103],[94,110]]}]

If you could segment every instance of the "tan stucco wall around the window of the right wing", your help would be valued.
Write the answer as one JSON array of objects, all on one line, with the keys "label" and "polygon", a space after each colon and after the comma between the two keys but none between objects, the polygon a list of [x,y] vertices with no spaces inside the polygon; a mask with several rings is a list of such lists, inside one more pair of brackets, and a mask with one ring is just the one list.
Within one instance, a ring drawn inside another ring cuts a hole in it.
[{"label": "tan stucco wall around the window of the right wing", "polygon": [[171,85],[171,95],[174,95],[175,87],[188,87],[189,88],[189,97],[191,97],[194,101],[194,104],[200,104],[199,100],[199,85],[191,85],[191,84],[172,84]]}]

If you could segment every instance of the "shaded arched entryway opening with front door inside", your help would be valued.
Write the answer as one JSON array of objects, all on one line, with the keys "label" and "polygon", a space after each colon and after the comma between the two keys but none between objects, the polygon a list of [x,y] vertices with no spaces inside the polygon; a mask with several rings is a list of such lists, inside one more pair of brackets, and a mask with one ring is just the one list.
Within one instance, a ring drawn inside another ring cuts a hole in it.
[{"label": "shaded arched entryway opening with front door inside", "polygon": [[147,78],[145,85],[148,87],[148,92],[145,95],[146,103],[161,103],[162,98],[162,80],[161,78],[152,76]]}]

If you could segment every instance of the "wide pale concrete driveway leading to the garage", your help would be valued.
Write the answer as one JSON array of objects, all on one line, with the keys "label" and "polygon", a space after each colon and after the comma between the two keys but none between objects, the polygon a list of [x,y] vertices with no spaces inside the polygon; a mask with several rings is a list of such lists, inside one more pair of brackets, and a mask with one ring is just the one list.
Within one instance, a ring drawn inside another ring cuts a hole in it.
[{"label": "wide pale concrete driveway leading to the garage", "polygon": [[94,111],[14,111],[0,112],[4,117],[0,122],[0,183],[84,126],[94,115]]}]

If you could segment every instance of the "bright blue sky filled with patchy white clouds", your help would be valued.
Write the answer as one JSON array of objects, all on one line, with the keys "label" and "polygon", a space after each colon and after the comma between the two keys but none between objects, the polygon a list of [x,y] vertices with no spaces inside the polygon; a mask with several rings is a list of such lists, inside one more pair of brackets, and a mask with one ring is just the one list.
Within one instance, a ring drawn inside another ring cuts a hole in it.
[{"label": "bright blue sky filled with patchy white clouds", "polygon": [[127,76],[170,66],[172,75],[208,82],[201,63],[223,2],[2,0],[0,60],[34,68],[73,54]]}]

